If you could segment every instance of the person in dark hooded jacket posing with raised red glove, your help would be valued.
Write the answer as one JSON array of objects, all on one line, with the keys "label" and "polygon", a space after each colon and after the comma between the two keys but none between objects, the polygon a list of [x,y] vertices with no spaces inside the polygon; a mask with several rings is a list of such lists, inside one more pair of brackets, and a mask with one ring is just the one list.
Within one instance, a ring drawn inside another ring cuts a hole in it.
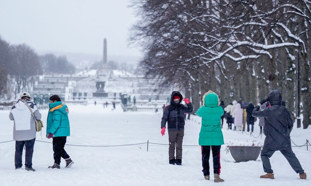
[{"label": "person in dark hooded jacket posing with raised red glove", "polygon": [[[186,102],[187,107],[180,104],[181,101]],[[164,108],[161,121],[161,134],[165,133],[165,125],[167,122],[167,130],[169,133],[169,164],[181,165],[183,154],[183,134],[185,127],[185,113],[193,111],[192,104],[188,98],[183,98],[181,93],[174,91],[171,94],[170,105]],[[176,147],[176,159],[175,159]]]}]

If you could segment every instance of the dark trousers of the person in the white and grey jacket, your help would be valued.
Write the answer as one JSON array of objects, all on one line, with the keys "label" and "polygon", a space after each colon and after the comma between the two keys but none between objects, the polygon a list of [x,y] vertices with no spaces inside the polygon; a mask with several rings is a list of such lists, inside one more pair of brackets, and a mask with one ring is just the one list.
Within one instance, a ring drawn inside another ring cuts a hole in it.
[{"label": "dark trousers of the person in the white and grey jacket", "polygon": [[32,168],[32,154],[34,153],[35,140],[36,138],[25,141],[15,141],[15,168],[20,168],[23,165],[22,155],[24,145],[26,147],[25,167]]}]

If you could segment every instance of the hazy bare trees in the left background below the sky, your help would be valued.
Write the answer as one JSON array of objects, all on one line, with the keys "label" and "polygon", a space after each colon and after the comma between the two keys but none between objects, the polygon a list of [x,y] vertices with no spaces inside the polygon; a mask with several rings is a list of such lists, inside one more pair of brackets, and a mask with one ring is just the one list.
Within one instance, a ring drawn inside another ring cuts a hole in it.
[{"label": "hazy bare trees in the left background below the sky", "polygon": [[36,75],[48,73],[74,73],[75,67],[66,57],[53,54],[38,56],[26,44],[10,45],[0,37],[0,97],[11,99],[30,87]]}]

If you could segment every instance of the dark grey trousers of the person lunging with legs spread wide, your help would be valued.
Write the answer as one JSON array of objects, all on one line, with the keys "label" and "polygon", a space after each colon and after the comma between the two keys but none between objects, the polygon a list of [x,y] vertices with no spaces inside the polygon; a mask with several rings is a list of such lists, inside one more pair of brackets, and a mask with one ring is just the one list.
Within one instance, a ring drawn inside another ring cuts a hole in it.
[{"label": "dark grey trousers of the person lunging with legs spread wide", "polygon": [[[283,156],[286,158],[286,160],[290,163],[290,166],[295,170],[296,173],[303,174],[304,170],[302,169],[299,160],[297,159],[296,155],[294,152],[289,149],[289,150],[279,150]],[[270,157],[273,155],[273,153],[276,152],[275,150],[269,150],[263,148],[261,150],[261,161],[262,161],[262,166],[263,166],[263,171],[267,173],[273,173],[273,170],[271,169],[271,164],[270,164]]]}]

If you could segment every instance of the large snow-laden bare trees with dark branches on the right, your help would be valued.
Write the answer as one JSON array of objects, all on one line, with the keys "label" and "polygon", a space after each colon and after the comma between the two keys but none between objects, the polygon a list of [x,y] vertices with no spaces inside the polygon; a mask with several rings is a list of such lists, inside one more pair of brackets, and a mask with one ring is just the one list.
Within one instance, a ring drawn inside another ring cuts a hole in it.
[{"label": "large snow-laden bare trees with dark branches on the right", "polygon": [[195,108],[208,90],[228,104],[257,102],[279,89],[295,118],[300,91],[307,128],[310,5],[307,0],[132,0],[141,20],[131,40],[146,49],[140,70],[185,88]]}]

